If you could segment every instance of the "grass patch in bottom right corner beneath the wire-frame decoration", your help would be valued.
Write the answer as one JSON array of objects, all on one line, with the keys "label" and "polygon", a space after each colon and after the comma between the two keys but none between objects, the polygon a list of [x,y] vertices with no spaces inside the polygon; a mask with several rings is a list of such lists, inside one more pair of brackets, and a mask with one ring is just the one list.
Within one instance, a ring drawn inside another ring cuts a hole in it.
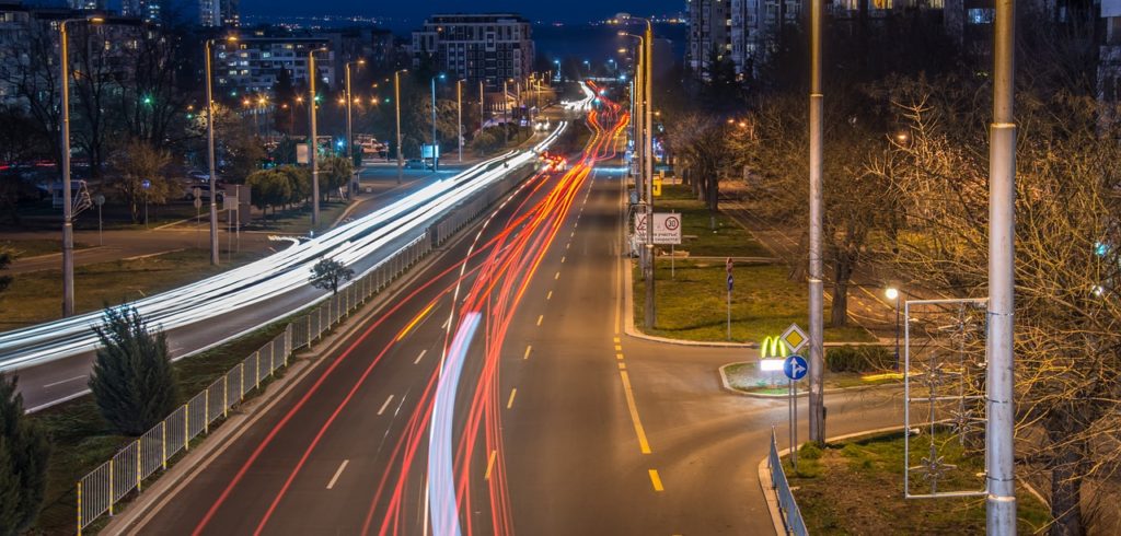
[{"label": "grass patch in bottom right corner beneath the wire-frame decoration", "polygon": [[[930,438],[912,438],[910,464],[916,466],[928,452]],[[984,486],[984,460],[978,452],[964,451],[956,439],[936,434],[939,454],[957,466],[939,480],[939,489],[976,490]],[[901,433],[877,435],[828,444],[824,450],[804,445],[798,470],[784,461],[794,496],[809,534],[899,534],[900,527],[915,527],[916,534],[984,534],[984,497],[904,499],[904,439]],[[914,473],[912,473],[914,477]],[[912,492],[929,492],[921,478],[911,479]],[[1018,534],[1032,534],[1046,525],[1047,507],[1026,490],[1019,490]]]}]

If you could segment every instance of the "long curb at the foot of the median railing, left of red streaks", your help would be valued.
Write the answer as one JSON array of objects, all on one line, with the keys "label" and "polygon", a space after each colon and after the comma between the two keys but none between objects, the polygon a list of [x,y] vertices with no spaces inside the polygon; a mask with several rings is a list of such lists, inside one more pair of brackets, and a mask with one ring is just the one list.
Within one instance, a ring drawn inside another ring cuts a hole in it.
[{"label": "long curb at the foot of the median railing, left of red streaks", "polygon": [[[225,452],[234,441],[252,427],[253,424],[263,419],[276,404],[291,393],[313,370],[316,370],[318,365],[325,361],[326,356],[337,351],[344,342],[350,340],[370,317],[376,316],[388,304],[393,303],[404,289],[408,284],[411,284],[432,263],[442,258],[445,252],[446,248],[438,254],[429,256],[427,260],[423,260],[405,276],[390,283],[386,292],[378,294],[378,299],[367,302],[365,305],[348,317],[342,326],[315,345],[314,348],[302,350],[299,355],[294,356],[291,365],[288,366],[282,376],[275,379],[259,396],[247,401],[238,410],[232,411],[222,426],[219,426],[198,446],[176,461],[161,478],[147,488],[148,491],[139,495],[135,500],[122,505],[124,507],[123,511],[110,518],[100,534],[138,534],[138,530],[142,530],[143,525],[152,516],[158,515],[159,510],[179,492],[183,486],[189,483],[191,479],[196,474],[195,470],[197,468],[210,464]],[[138,523],[140,524],[139,529],[136,527]]]}]

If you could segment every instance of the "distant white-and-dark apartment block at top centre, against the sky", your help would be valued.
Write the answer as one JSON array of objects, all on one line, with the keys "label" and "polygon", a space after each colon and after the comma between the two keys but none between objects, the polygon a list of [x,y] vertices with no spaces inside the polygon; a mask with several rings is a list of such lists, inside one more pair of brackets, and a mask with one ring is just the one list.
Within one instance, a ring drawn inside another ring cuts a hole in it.
[{"label": "distant white-and-dark apartment block at top centre, against the sky", "polygon": [[530,23],[513,13],[434,15],[413,32],[413,65],[429,57],[452,78],[489,87],[522,82],[534,66]]}]

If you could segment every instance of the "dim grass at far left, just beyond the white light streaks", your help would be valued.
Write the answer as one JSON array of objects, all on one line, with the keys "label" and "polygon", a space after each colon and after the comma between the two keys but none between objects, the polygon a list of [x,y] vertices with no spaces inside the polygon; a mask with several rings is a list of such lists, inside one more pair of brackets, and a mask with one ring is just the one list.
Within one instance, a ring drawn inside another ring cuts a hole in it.
[{"label": "dim grass at far left, just beyond the white light streaks", "polygon": [[[183,250],[163,255],[87,264],[74,269],[75,310],[95,311],[152,293],[182,286],[260,258],[261,253],[235,253],[232,262],[210,264],[206,250]],[[0,330],[30,326],[61,317],[62,273],[41,270],[12,276],[0,294]]]}]

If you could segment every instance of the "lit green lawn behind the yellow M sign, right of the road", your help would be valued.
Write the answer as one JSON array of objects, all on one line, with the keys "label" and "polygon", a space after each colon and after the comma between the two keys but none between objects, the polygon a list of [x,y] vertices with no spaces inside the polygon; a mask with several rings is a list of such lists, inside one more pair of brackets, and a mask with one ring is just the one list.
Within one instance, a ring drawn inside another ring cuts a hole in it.
[{"label": "lit green lawn behind the yellow M sign, right of the road", "polygon": [[[677,261],[670,279],[668,262],[659,261],[655,274],[658,323],[642,326],[646,305],[645,283],[633,263],[634,325],[661,337],[696,341],[726,341],[726,275],[723,262]],[[732,341],[759,342],[777,336],[791,322],[808,326],[808,292],[805,285],[787,279],[787,270],[777,264],[738,265],[732,291]],[[828,310],[826,303],[825,310]],[[825,328],[825,340],[873,341],[871,333],[858,326]]]}]

